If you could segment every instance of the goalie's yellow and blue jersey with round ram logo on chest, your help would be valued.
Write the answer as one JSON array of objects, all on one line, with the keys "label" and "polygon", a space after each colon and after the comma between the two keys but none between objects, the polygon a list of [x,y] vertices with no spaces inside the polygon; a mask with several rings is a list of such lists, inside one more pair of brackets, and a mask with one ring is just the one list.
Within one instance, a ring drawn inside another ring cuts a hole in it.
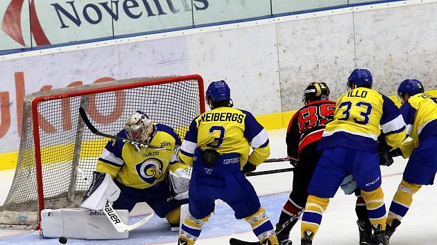
[{"label": "goalie's yellow and blue jersey with round ram logo on chest", "polygon": [[[117,136],[128,138],[126,131],[119,131]],[[137,189],[149,188],[163,181],[169,170],[187,165],[178,163],[173,150],[181,145],[178,134],[166,125],[153,125],[150,145],[165,149],[139,147],[135,152],[134,145],[120,140],[110,140],[98,158],[96,171],[111,174],[123,185]]]}]

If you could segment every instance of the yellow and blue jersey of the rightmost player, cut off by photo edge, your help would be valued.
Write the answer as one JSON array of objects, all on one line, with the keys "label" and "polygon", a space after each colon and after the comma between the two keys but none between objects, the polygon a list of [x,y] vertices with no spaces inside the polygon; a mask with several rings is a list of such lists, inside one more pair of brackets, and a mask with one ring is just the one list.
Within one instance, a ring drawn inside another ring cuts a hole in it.
[{"label": "yellow and blue jersey of the rightmost player, cut off by photo edge", "polygon": [[412,140],[402,144],[402,156],[409,158],[420,138],[437,136],[437,97],[428,93],[411,96],[400,108],[406,123],[406,134]]}]

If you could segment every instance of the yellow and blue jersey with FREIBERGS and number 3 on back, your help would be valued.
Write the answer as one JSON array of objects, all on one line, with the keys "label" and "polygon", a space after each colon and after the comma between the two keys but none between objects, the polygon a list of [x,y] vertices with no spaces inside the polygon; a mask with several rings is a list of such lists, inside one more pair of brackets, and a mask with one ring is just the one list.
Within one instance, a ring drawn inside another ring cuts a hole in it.
[{"label": "yellow and blue jersey with FREIBERGS and number 3 on back", "polygon": [[218,107],[193,120],[180,147],[180,159],[191,165],[196,148],[240,154],[241,167],[247,161],[259,165],[270,155],[266,129],[250,112],[232,107]]}]

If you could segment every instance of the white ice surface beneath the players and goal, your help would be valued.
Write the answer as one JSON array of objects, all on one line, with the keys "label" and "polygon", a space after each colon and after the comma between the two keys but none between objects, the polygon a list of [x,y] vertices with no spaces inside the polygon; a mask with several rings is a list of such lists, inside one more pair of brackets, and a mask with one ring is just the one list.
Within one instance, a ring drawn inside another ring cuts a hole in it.
[{"label": "white ice surface beneath the players and goal", "polygon": [[[271,138],[271,158],[286,156],[284,143],[285,129],[268,131]],[[390,206],[393,194],[402,179],[406,160],[397,157],[391,167],[382,167],[382,188],[385,193],[386,208]],[[288,163],[265,163],[258,170],[289,167]],[[10,187],[13,178],[12,171],[0,171],[2,202]],[[250,177],[257,193],[261,196],[262,205],[266,206],[268,216],[275,223],[280,215],[284,201],[291,190],[293,173],[270,174]],[[1,203],[0,202],[0,203]],[[358,244],[356,215],[354,212],[355,197],[345,195],[339,191],[331,199],[316,238],[315,245]],[[391,239],[391,245],[435,245],[437,244],[437,215],[434,209],[437,206],[436,185],[423,186],[413,197],[413,204],[402,219],[401,226]],[[177,234],[166,233],[166,221],[154,218],[137,232],[131,232],[130,238],[120,241],[86,241],[69,239],[67,244],[176,244]],[[153,226],[153,227],[151,227]],[[155,231],[158,230],[158,233]],[[158,234],[158,235],[155,235]],[[162,235],[164,234],[164,235]],[[300,244],[300,222],[293,227],[291,239],[293,244]],[[232,218],[232,211],[224,203],[217,203],[216,213],[212,215],[200,239],[199,245],[228,244],[230,237],[255,241],[256,237],[244,221]],[[57,239],[43,239],[36,232],[0,230],[0,244],[59,244]]]}]

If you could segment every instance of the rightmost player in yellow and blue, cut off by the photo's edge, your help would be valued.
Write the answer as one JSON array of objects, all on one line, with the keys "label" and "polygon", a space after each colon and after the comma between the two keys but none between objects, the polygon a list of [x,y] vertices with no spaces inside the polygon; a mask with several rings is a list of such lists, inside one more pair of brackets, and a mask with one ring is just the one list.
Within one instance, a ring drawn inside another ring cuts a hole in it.
[{"label": "rightmost player in yellow and blue, cut off by the photo's edge", "polygon": [[437,172],[437,97],[424,93],[419,80],[404,80],[397,95],[402,99],[400,111],[406,134],[412,140],[391,152],[409,158],[402,181],[393,197],[387,217],[387,234],[393,235],[413,202],[413,194],[422,185],[432,185]]}]

